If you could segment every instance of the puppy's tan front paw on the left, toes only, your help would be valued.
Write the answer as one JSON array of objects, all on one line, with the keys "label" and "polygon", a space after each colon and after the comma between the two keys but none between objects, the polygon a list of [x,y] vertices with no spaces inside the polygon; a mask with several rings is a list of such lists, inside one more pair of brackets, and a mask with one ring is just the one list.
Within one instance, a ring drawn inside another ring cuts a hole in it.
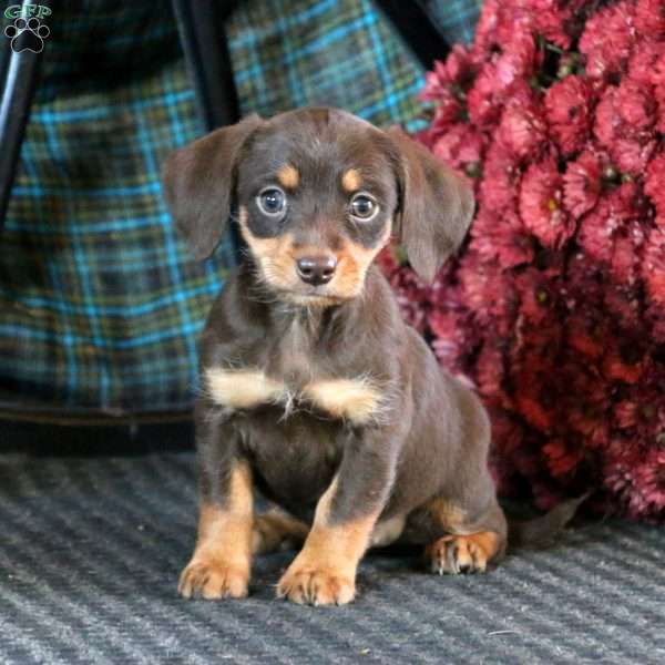
[{"label": "puppy's tan front paw on the left, toes only", "polygon": [[177,592],[185,598],[244,598],[249,574],[216,561],[193,560],[183,571]]}]

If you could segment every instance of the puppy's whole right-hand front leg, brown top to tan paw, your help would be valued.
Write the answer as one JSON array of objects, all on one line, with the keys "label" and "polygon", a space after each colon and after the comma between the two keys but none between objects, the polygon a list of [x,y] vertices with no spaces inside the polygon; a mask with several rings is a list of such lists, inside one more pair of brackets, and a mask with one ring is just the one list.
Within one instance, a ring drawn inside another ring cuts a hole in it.
[{"label": "puppy's whole right-hand front leg, brown top to tan paw", "polygon": [[295,603],[344,605],[356,594],[356,570],[395,478],[395,456],[378,430],[345,451],[320,498],[300,553],[277,585]]}]

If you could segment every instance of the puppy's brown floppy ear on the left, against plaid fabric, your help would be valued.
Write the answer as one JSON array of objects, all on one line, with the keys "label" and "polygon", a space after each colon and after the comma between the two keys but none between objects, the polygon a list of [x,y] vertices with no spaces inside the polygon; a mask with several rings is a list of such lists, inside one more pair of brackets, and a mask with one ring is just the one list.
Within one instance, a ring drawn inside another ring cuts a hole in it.
[{"label": "puppy's brown floppy ear on the left, against plaid fabric", "polygon": [[258,115],[249,115],[182,147],[164,164],[166,203],[200,260],[211,256],[226,228],[238,153],[260,124]]}]

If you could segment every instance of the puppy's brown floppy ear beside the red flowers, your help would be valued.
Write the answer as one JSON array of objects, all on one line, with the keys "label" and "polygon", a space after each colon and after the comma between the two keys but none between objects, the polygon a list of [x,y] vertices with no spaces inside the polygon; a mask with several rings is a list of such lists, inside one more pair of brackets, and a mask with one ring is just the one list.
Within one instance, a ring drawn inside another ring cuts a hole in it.
[{"label": "puppy's brown floppy ear beside the red flowers", "polygon": [[399,161],[398,238],[413,269],[432,282],[464,239],[473,217],[473,193],[452,168],[400,127],[390,127],[387,134]]}]

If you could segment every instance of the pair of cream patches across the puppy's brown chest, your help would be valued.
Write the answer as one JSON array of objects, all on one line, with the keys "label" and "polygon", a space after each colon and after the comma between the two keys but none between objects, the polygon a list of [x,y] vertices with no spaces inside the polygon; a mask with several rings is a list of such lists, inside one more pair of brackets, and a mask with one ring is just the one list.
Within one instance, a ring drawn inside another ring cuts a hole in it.
[{"label": "pair of cream patches across the puppy's brown chest", "polygon": [[284,405],[288,412],[301,402],[354,424],[376,421],[381,413],[382,395],[364,378],[310,381],[298,389],[259,369],[216,367],[205,371],[205,387],[215,402],[232,410],[273,403]]}]

